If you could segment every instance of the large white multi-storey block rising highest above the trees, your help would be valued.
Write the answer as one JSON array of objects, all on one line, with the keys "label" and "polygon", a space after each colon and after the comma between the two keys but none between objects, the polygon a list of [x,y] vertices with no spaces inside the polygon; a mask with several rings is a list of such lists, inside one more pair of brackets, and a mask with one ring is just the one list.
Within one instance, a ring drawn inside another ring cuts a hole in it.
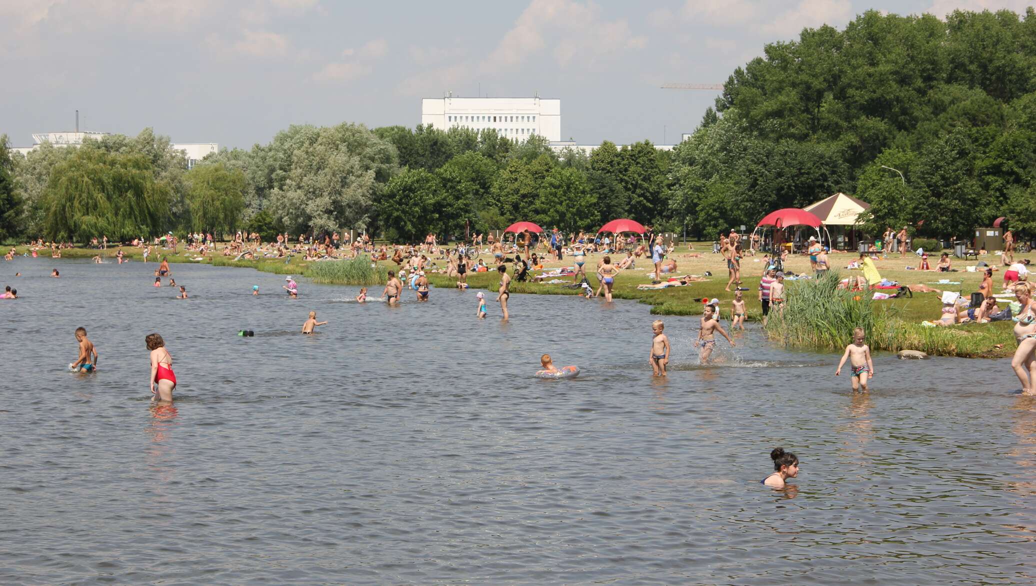
[{"label": "large white multi-storey block rising highest above the trees", "polygon": [[495,128],[506,138],[524,141],[533,135],[562,140],[562,100],[553,97],[426,97],[421,123],[447,130]]}]

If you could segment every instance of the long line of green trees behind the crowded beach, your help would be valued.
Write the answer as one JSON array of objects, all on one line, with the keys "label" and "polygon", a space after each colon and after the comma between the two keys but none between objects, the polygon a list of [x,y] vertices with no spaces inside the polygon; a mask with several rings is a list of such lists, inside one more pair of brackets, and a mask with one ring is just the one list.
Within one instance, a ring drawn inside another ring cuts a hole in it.
[{"label": "long line of green trees behind the crowded beach", "polygon": [[1006,215],[1036,233],[1036,16],[901,17],[769,43],[671,151],[555,153],[493,129],[292,125],[188,171],[145,129],[80,149],[0,153],[0,237],[166,230],[363,230],[396,241],[527,219],[565,231],[631,217],[714,237],[836,192],[871,234],[965,236]]}]

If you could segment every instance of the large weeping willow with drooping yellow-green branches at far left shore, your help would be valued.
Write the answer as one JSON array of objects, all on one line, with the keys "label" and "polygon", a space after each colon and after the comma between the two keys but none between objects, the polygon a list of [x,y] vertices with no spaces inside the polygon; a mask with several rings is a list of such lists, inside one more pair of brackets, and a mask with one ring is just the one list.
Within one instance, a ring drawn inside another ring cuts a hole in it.
[{"label": "large weeping willow with drooping yellow-green branches at far left shore", "polygon": [[84,145],[51,172],[45,231],[80,242],[153,236],[168,225],[169,202],[169,186],[155,179],[145,155]]}]

